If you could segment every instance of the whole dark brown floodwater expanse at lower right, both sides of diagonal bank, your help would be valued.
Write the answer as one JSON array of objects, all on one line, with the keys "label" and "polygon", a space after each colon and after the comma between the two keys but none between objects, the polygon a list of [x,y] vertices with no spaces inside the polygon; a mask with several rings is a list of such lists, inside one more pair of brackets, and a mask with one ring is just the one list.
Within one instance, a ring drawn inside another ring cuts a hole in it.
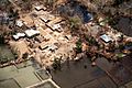
[{"label": "whole dark brown floodwater expanse at lower right, both sides of diagonal bank", "polygon": [[87,58],[69,62],[68,66],[64,63],[62,70],[52,72],[53,79],[62,88],[132,87],[132,56],[119,63],[109,63],[106,58],[98,58],[96,63],[95,67]]}]

